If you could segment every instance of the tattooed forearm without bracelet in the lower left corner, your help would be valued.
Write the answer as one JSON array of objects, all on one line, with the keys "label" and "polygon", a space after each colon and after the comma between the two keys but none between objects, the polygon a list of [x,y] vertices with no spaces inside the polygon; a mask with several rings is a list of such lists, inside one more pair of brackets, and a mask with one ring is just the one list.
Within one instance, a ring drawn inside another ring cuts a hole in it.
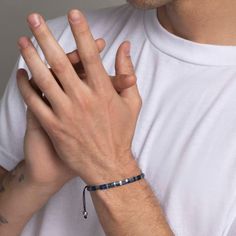
[{"label": "tattooed forearm without bracelet in the lower left corner", "polygon": [[0,235],[20,235],[25,224],[52,194],[52,190],[28,181],[24,163],[5,175],[0,188]]}]

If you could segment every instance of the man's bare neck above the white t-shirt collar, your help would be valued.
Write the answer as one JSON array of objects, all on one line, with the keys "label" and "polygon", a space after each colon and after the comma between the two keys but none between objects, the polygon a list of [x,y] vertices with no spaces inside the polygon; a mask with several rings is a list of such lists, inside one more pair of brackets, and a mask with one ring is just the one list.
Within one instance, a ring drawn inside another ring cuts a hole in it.
[{"label": "man's bare neck above the white t-shirt collar", "polygon": [[198,43],[236,45],[235,0],[174,0],[158,8],[169,32]]}]

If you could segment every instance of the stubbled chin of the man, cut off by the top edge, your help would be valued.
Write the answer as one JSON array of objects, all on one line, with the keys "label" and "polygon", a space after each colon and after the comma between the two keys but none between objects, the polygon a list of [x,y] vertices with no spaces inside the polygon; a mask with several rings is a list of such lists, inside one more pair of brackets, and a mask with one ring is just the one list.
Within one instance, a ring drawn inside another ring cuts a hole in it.
[{"label": "stubbled chin of the man, cut off by the top edge", "polygon": [[155,9],[164,6],[173,0],[126,0],[128,3],[140,9]]}]

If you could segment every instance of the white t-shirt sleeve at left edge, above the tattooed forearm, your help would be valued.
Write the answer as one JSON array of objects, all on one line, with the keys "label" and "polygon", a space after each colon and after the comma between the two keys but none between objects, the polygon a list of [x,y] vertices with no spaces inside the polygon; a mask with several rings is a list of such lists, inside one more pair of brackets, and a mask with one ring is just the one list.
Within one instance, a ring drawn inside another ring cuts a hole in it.
[{"label": "white t-shirt sleeve at left edge, above the tattooed forearm", "polygon": [[26,105],[17,87],[17,61],[0,101],[0,166],[10,171],[24,157]]}]

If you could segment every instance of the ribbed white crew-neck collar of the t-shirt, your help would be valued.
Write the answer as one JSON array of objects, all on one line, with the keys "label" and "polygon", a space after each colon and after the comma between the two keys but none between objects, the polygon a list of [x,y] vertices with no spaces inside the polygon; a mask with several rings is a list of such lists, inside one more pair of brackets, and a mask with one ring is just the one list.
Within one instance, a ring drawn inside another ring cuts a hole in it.
[{"label": "ribbed white crew-neck collar of the t-shirt", "polygon": [[199,65],[236,65],[236,46],[201,44],[178,37],[160,24],[156,9],[144,11],[144,27],[153,46],[169,56]]}]

